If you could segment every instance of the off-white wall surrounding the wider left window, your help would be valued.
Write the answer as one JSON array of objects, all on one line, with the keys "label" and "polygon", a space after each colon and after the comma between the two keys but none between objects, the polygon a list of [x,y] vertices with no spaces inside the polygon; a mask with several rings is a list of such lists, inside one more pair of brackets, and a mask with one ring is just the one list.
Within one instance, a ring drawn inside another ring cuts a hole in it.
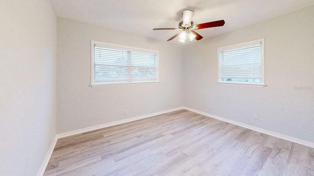
[{"label": "off-white wall surrounding the wider left window", "polygon": [[[63,18],[57,26],[57,133],[183,106],[182,46]],[[91,40],[158,50],[160,83],[90,87]]]}]

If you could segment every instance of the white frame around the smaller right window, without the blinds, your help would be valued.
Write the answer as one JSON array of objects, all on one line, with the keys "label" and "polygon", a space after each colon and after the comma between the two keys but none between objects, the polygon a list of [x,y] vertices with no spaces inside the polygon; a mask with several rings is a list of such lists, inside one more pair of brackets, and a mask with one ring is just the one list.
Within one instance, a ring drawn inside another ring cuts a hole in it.
[{"label": "white frame around the smaller right window, without the blinds", "polygon": [[[242,48],[246,46],[252,46],[254,44],[260,43],[261,44],[261,51],[262,51],[262,79],[261,83],[252,83],[252,82],[230,82],[230,81],[221,81],[220,79],[220,52],[221,51],[226,51],[226,50],[231,50],[231,49],[237,49],[237,48]],[[218,85],[230,85],[230,86],[249,86],[249,87],[265,87],[265,42],[264,38],[254,40],[254,41],[249,41],[249,42],[244,42],[240,44],[233,44],[233,45],[228,45],[228,46],[223,46],[223,47],[218,47],[217,48],[217,58],[218,58]]]}]

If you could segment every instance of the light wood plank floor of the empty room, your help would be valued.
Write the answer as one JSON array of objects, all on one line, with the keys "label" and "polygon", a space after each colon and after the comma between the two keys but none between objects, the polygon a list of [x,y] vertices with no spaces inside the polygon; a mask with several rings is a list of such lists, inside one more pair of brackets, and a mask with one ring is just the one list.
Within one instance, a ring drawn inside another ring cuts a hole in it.
[{"label": "light wood plank floor of the empty room", "polygon": [[314,149],[178,110],[59,139],[59,175],[314,176]]}]

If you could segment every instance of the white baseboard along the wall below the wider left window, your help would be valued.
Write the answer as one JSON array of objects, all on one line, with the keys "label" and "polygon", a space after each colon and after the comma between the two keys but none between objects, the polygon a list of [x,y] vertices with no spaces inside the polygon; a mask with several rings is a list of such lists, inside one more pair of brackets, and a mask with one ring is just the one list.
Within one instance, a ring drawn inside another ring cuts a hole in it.
[{"label": "white baseboard along the wall below the wider left window", "polygon": [[90,132],[90,131],[93,131],[93,130],[98,130],[98,129],[102,129],[102,128],[105,128],[105,127],[119,125],[119,124],[131,122],[131,121],[135,121],[135,120],[139,120],[139,119],[144,119],[144,118],[152,117],[152,116],[155,116],[155,115],[160,115],[160,114],[163,114],[163,113],[172,112],[172,111],[175,111],[175,110],[182,110],[182,109],[183,109],[183,107],[173,108],[173,109],[170,109],[170,110],[162,110],[162,111],[159,111],[159,112],[154,112],[154,113],[145,114],[145,115],[141,115],[141,116],[137,116],[137,117],[132,117],[132,118],[128,118],[128,119],[118,120],[118,121],[115,121],[115,122],[109,122],[109,123],[105,123],[105,124],[101,124],[101,125],[87,127],[87,128],[83,128],[83,129],[79,129],[79,130],[74,130],[74,131],[71,131],[71,132],[64,132],[64,133],[57,134],[56,136],[57,136],[57,138],[67,137],[67,136],[79,134],[79,133],[82,133],[82,132]]}]

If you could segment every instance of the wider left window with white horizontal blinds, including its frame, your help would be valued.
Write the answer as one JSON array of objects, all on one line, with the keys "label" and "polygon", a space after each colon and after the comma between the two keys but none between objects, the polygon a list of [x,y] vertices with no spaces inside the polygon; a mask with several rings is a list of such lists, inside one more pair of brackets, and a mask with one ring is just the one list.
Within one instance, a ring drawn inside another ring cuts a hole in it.
[{"label": "wider left window with white horizontal blinds, including its frame", "polygon": [[91,41],[91,86],[158,81],[158,51]]}]

